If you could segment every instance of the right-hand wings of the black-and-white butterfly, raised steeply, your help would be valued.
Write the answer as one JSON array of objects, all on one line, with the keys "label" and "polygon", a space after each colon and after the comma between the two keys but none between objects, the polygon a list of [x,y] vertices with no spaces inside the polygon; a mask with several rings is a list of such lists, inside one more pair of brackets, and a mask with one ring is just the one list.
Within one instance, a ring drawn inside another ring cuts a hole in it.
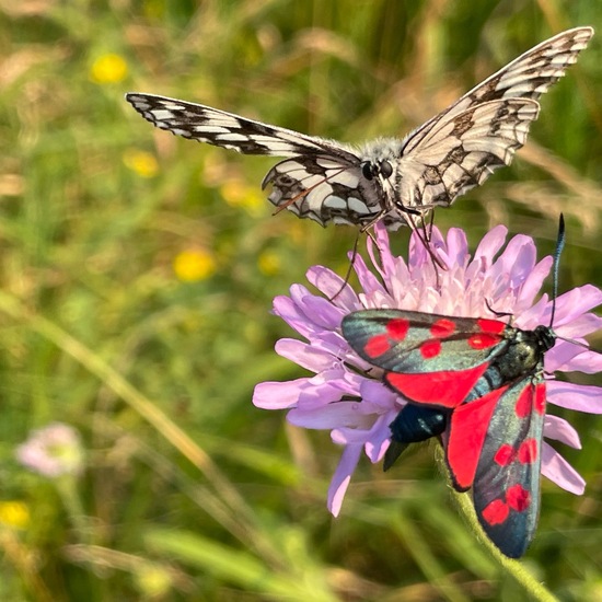
[{"label": "right-hand wings of the black-and-white butterfly, raised steeply", "polygon": [[[531,121],[537,118],[540,96],[564,77],[592,35],[592,27],[576,27],[542,42],[410,132],[404,139],[400,161],[403,202],[424,208],[451,205],[493,171],[509,165],[524,144]],[[518,109],[518,99],[531,101],[531,107]],[[488,129],[486,117],[478,119],[487,105],[489,114],[495,113]],[[459,120],[474,120],[474,116],[479,126],[460,127],[460,135],[454,132]],[[451,139],[442,143],[449,130],[453,132]],[[449,152],[443,157],[444,148]]]}]

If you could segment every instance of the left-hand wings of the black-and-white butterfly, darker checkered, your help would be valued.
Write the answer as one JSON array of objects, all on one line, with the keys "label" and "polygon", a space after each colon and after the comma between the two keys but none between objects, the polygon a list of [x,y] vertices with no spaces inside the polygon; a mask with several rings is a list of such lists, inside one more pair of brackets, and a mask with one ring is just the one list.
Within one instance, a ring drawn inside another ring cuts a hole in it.
[{"label": "left-hand wings of the black-and-white butterfly, darker checkered", "polygon": [[264,180],[264,188],[273,184],[268,198],[278,209],[322,225],[367,225],[383,212],[382,182],[362,175],[351,147],[176,99],[140,93],[126,99],[144,119],[184,138],[244,154],[291,157]]}]

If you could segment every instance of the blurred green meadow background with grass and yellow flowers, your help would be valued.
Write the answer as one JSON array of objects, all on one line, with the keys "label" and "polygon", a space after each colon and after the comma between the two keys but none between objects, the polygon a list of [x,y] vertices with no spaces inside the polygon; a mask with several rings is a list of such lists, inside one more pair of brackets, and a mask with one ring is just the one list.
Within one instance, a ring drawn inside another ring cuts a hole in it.
[{"label": "blurred green meadow background with grass and yellow flowers", "polygon": [[[363,459],[328,514],[340,449],[251,398],[303,375],[274,352],[292,333],[273,297],[313,264],[344,275],[355,230],[271,217],[273,160],[158,131],[124,94],[361,141],[587,24],[513,165],[436,216],[473,247],[505,223],[543,256],[564,211],[562,290],[602,286],[602,3],[0,0],[0,600],[523,599],[429,445],[386,475]],[[523,562],[562,600],[601,600],[602,417],[552,410],[588,486],[544,479]],[[81,473],[15,459],[54,421],[79,432]]]}]

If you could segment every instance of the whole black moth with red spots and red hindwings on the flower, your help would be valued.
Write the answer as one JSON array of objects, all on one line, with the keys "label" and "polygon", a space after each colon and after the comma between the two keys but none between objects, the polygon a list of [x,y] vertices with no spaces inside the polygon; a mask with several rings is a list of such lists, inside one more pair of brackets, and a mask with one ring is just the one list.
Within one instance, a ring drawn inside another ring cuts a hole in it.
[{"label": "whole black moth with red spots and red hindwings on the flower", "polygon": [[[563,245],[560,216],[554,299]],[[441,436],[453,487],[472,488],[485,533],[512,558],[524,554],[537,524],[553,320],[554,305],[549,326],[534,331],[497,319],[363,310],[341,325],[351,348],[409,402],[390,425],[385,470],[407,444]]]}]

